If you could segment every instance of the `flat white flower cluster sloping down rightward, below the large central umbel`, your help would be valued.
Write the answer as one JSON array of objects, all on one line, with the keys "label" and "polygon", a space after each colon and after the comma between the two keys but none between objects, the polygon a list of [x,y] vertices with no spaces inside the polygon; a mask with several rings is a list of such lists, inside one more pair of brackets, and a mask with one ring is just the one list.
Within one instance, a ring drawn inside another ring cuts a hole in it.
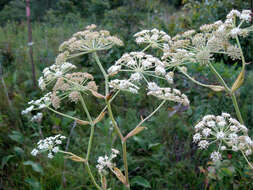
[{"label": "flat white flower cluster sloping down rightward, below the large central umbel", "polygon": [[162,88],[155,82],[150,82],[148,83],[148,90],[148,95],[155,96],[159,99],[179,102],[184,106],[188,106],[190,104],[188,97],[185,94],[182,94],[178,89]]}]

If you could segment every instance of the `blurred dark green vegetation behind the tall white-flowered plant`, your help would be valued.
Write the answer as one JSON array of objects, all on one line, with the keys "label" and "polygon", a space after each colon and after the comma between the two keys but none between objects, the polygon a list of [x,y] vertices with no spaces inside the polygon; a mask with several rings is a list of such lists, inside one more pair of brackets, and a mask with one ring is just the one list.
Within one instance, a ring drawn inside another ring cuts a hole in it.
[{"label": "blurred dark green vegetation behind the tall white-flowered plant", "polygon": [[[156,27],[175,35],[222,19],[233,8],[242,10],[251,9],[251,6],[250,0],[31,0],[37,78],[43,68],[54,63],[61,42],[91,23],[111,31],[125,43],[124,47],[103,55],[102,61],[108,68],[124,52],[136,50],[132,35],[139,30]],[[25,2],[1,0],[0,25],[0,67],[3,71],[2,74],[0,72],[0,189],[94,189],[82,165],[64,161],[62,156],[48,160],[45,156],[34,158],[30,155],[40,134],[38,126],[22,117],[20,112],[29,100],[40,97],[41,91],[32,85]],[[253,35],[242,43],[246,61],[250,63],[253,61]],[[227,57],[217,57],[217,60],[215,66],[227,82],[232,83],[240,64]],[[97,71],[88,56],[75,61],[91,73]],[[245,84],[238,93],[245,123],[251,131],[252,68],[248,65]],[[188,69],[203,82],[217,83],[205,67],[192,66]],[[99,83],[102,76],[97,78]],[[148,130],[129,141],[132,189],[253,189],[253,173],[248,170],[245,161],[231,153],[214,167],[208,162],[208,153],[198,151],[191,142],[192,126],[203,115],[226,111],[235,116],[230,99],[222,93],[215,94],[200,88],[180,74],[176,75],[175,81],[175,85],[184,89],[190,97],[191,107],[177,110],[177,107],[169,105],[146,123]],[[89,106],[95,112],[99,105],[94,101],[90,101]],[[129,131],[140,116],[151,111],[157,103],[144,94],[141,97],[126,94],[120,96],[113,109],[120,127]],[[78,110],[73,105],[69,106]],[[70,114],[80,113],[73,111]],[[69,136],[73,129],[66,148],[83,154],[89,131],[73,126],[72,121],[48,112],[41,127],[44,136],[53,133]],[[91,159],[93,166],[98,156],[104,155],[116,144],[109,120],[103,120],[97,128],[94,140],[97,144]],[[118,165],[122,165],[121,162],[118,160]],[[121,189],[121,184],[113,176],[110,177],[110,185],[113,190]]]}]

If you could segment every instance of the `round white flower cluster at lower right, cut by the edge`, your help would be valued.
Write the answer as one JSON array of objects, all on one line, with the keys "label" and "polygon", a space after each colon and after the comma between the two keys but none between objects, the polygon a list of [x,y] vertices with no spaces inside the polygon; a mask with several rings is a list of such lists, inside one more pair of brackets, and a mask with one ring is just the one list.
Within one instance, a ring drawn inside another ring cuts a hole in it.
[{"label": "round white flower cluster at lower right, cut by the edge", "polygon": [[195,132],[193,142],[198,143],[199,149],[207,149],[211,144],[217,145],[218,150],[211,154],[213,161],[220,160],[221,152],[225,150],[252,154],[253,141],[247,135],[248,129],[228,113],[206,115],[195,126]]}]

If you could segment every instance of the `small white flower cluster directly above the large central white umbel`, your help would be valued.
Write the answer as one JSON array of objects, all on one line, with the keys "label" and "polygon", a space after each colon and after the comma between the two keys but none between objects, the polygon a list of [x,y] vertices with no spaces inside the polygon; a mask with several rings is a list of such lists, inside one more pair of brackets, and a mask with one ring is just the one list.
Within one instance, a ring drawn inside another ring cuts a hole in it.
[{"label": "small white flower cluster directly above the large central white umbel", "polygon": [[150,44],[153,48],[164,48],[171,40],[171,37],[164,31],[154,28],[142,30],[134,35],[137,44]]}]

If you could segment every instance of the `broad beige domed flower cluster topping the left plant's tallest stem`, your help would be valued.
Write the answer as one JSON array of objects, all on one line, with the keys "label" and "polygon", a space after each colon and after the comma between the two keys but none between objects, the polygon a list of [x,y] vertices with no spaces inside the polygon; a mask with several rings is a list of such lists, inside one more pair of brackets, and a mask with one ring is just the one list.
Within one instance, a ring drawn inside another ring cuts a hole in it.
[{"label": "broad beige domed flower cluster topping the left plant's tallest stem", "polygon": [[93,51],[107,50],[112,46],[122,46],[123,42],[116,36],[111,36],[107,30],[94,31],[96,25],[87,26],[84,31],[77,32],[63,42],[59,50],[69,52],[69,57],[79,56]]}]

